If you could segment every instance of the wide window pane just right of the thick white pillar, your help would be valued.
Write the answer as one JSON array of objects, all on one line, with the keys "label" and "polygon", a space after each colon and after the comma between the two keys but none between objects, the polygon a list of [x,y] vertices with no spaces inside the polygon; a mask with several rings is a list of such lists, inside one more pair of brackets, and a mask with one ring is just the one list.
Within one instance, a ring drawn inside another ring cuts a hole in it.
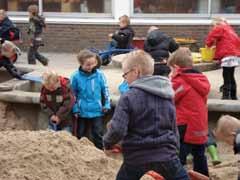
[{"label": "wide window pane just right of the thick white pillar", "polygon": [[208,0],[134,0],[134,12],[206,14]]}]

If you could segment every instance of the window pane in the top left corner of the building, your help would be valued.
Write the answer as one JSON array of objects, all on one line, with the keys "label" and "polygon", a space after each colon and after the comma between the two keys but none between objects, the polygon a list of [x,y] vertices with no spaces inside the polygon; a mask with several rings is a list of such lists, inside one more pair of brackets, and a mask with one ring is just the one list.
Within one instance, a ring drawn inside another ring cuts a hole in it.
[{"label": "window pane in the top left corner of the building", "polygon": [[7,11],[27,11],[31,4],[38,5],[38,0],[0,0],[0,9]]}]

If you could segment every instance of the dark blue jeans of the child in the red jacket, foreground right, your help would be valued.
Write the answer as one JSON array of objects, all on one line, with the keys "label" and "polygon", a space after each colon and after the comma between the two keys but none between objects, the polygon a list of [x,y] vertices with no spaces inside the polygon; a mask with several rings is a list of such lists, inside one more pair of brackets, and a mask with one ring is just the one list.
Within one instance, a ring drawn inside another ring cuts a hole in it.
[{"label": "dark blue jeans of the child in the red jacket, foreground right", "polygon": [[205,176],[209,176],[207,158],[205,156],[205,147],[205,144],[196,145],[181,143],[179,157],[182,165],[185,165],[187,161],[187,156],[189,154],[192,154],[193,170],[204,174]]}]

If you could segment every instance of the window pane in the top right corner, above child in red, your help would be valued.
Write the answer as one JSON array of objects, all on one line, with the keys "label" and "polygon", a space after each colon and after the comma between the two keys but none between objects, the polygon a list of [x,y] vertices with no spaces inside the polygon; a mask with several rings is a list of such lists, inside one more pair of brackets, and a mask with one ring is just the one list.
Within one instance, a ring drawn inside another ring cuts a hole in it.
[{"label": "window pane in the top right corner, above child in red", "polygon": [[212,0],[212,12],[223,14],[240,13],[240,0]]}]

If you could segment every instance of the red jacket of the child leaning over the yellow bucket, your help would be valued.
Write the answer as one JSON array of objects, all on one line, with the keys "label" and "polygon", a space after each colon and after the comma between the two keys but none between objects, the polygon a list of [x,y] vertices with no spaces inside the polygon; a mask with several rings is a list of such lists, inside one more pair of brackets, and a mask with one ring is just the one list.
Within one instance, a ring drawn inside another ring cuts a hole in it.
[{"label": "red jacket of the child leaning over the yellow bucket", "polygon": [[240,56],[240,39],[234,29],[227,23],[217,25],[209,32],[206,45],[216,45],[214,59],[221,61],[227,56]]}]

